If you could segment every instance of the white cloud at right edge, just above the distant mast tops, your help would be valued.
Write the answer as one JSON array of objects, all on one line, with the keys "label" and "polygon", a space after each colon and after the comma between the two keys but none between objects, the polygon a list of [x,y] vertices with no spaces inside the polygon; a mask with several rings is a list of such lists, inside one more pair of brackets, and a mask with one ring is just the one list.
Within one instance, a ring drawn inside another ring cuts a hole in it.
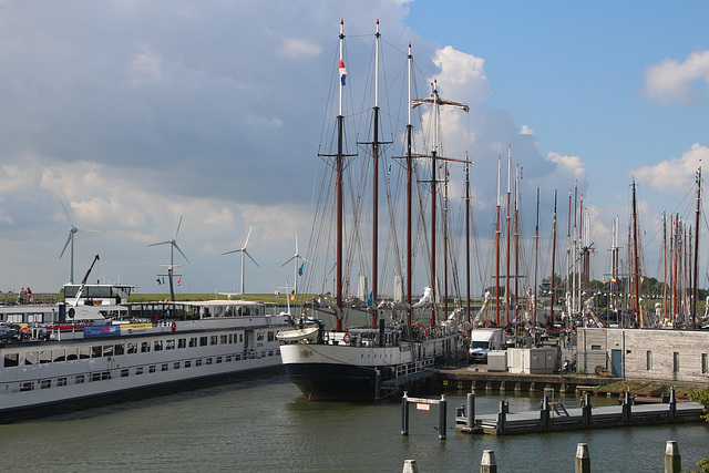
[{"label": "white cloud at right edge, just above the distant mast tops", "polygon": [[690,187],[702,161],[709,162],[709,147],[695,143],[681,157],[672,157],[653,166],[633,171],[638,183],[658,192],[682,191]]}]

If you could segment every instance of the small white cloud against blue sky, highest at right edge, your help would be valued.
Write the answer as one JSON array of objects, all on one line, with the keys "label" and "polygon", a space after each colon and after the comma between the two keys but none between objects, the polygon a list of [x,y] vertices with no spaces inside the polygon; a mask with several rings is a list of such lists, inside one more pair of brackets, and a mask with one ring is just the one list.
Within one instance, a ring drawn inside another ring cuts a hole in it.
[{"label": "small white cloud against blue sky, highest at right edge", "polygon": [[[646,71],[645,94],[657,103],[703,101],[709,91],[709,51],[692,52],[685,62],[666,59]],[[703,82],[701,88],[692,86]]]}]

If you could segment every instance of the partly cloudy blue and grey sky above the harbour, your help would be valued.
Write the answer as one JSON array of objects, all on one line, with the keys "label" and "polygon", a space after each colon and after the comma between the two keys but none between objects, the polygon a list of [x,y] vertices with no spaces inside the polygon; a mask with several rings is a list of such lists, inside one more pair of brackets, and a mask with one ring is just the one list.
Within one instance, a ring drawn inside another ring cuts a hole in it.
[{"label": "partly cloudy blue and grey sky above the harbour", "polygon": [[292,285],[282,264],[296,236],[307,257],[340,20],[351,88],[379,20],[424,84],[470,105],[442,124],[446,152],[474,162],[482,240],[511,150],[526,240],[537,186],[545,238],[554,191],[561,228],[577,186],[600,279],[635,179],[644,273],[661,276],[661,214],[693,222],[709,160],[708,17],[705,1],[0,1],[0,290],[59,290],[72,225],[74,281],[99,254],[91,280],[164,292],[169,246],[148,245],[179,225],[178,291],[237,291],[240,255],[223,254],[249,229],[245,291]]}]

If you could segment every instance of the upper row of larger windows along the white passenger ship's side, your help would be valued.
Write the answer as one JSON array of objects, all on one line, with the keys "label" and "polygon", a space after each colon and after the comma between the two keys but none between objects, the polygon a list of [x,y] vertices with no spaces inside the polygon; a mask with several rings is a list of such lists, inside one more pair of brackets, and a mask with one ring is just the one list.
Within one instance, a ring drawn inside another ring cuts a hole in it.
[{"label": "upper row of larger windows along the white passenger ship's side", "polygon": [[[273,342],[276,340],[274,331],[256,332],[256,341]],[[152,351],[174,350],[183,348],[206,347],[210,345],[243,343],[244,333],[224,333],[203,337],[178,338],[168,340],[152,340],[127,343],[93,345],[86,347],[59,348],[54,350],[28,351],[24,357],[20,353],[6,353],[4,368],[44,364],[61,361],[85,360],[89,358],[113,357],[119,354],[148,353]]]}]

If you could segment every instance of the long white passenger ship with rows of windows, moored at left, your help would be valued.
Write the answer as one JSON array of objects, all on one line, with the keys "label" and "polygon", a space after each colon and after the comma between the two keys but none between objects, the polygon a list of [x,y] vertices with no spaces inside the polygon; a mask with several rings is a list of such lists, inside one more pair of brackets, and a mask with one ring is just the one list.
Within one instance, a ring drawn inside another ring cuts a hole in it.
[{"label": "long white passenger ship with rows of windows, moored at left", "polygon": [[86,285],[68,308],[0,310],[0,422],[281,369],[286,313],[243,300],[125,304],[129,286],[99,286],[111,285]]}]

